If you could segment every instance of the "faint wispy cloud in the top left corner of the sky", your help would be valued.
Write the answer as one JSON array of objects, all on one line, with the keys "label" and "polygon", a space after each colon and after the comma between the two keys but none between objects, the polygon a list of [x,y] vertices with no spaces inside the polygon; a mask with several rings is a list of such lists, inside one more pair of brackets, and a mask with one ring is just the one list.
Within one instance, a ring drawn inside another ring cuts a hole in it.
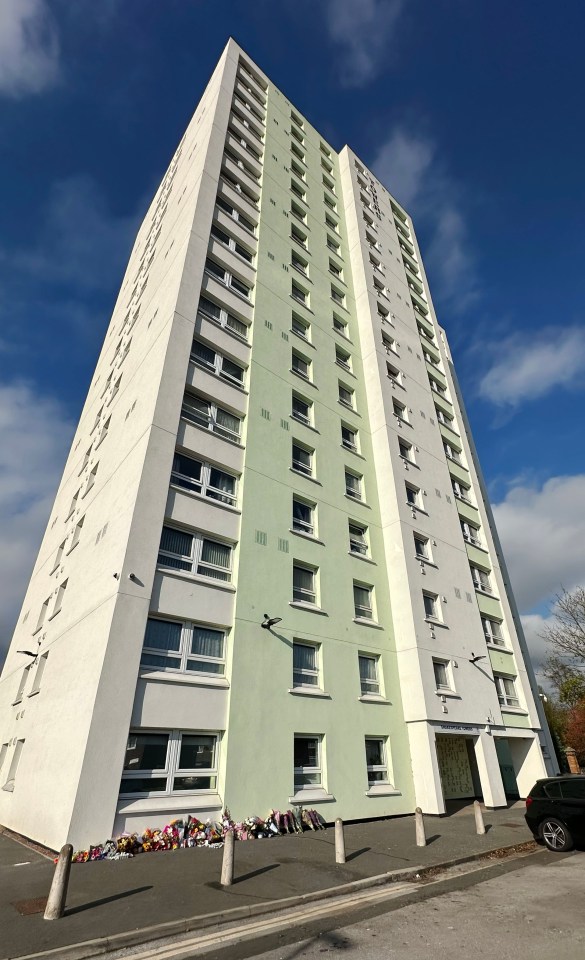
[{"label": "faint wispy cloud in the top left corner of the sky", "polygon": [[59,38],[45,0],[0,2],[0,94],[40,93],[59,78]]}]

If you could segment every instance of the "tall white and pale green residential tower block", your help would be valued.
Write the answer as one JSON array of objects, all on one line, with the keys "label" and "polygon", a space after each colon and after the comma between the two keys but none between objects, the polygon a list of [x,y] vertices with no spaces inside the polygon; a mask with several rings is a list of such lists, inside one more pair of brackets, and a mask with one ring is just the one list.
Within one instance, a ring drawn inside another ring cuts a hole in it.
[{"label": "tall white and pale green residential tower block", "polygon": [[0,823],[500,806],[554,768],[535,689],[412,224],[230,41],[6,660]]}]

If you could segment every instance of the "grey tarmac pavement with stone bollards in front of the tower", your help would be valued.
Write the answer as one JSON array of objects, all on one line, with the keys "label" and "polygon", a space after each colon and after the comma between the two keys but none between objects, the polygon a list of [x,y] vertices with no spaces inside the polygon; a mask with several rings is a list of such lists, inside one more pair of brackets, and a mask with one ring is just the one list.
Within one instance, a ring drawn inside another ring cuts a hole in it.
[{"label": "grey tarmac pavement with stone bollards in front of the tower", "polygon": [[[346,826],[348,862],[335,864],[333,828],[302,836],[237,842],[232,887],[219,885],[221,850],[194,848],[131,860],[73,864],[62,920],[22,916],[20,901],[46,897],[52,861],[0,834],[0,956],[13,958],[157,923],[272,902],[419,865],[488,852],[532,839],[524,803],[486,811],[475,833],[473,806],[425,818],[428,846],[416,847],[414,818]],[[33,905],[34,906],[34,905]]]}]

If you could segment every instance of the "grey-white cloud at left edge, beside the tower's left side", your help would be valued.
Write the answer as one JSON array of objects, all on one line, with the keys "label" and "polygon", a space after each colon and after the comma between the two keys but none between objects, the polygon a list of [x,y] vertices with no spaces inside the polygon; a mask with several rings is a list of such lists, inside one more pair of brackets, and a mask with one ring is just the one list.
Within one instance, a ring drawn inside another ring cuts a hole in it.
[{"label": "grey-white cloud at left edge, beside the tower's left side", "polygon": [[0,385],[0,662],[73,435],[60,404],[30,384]]}]

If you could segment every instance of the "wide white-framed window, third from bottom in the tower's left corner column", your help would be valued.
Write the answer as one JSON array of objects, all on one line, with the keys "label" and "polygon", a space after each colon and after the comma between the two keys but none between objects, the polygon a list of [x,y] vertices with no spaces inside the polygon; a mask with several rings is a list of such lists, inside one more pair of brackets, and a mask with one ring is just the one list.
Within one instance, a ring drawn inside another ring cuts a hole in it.
[{"label": "wide white-framed window, third from bottom in the tower's left corner column", "polygon": [[158,563],[171,570],[185,570],[214,580],[231,580],[232,548],[203,536],[163,527]]}]

